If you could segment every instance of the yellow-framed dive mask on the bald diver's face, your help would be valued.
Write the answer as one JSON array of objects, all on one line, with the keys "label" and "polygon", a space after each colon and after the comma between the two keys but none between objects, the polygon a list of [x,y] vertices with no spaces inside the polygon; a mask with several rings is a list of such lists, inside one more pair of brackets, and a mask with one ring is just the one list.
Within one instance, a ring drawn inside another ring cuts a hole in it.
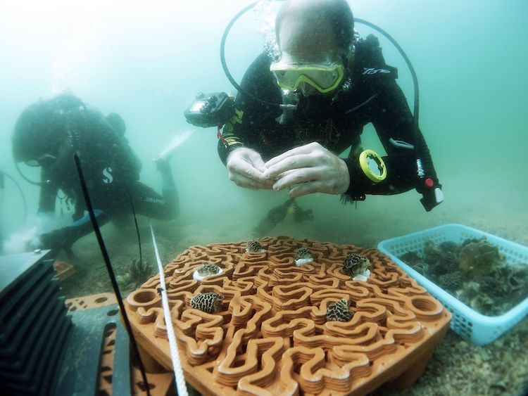
[{"label": "yellow-framed dive mask on the bald diver's face", "polygon": [[280,60],[271,64],[270,71],[282,89],[300,90],[303,94],[309,94],[310,91],[313,94],[317,93],[315,91],[326,94],[339,87],[345,68],[342,63],[337,62],[291,63]]}]

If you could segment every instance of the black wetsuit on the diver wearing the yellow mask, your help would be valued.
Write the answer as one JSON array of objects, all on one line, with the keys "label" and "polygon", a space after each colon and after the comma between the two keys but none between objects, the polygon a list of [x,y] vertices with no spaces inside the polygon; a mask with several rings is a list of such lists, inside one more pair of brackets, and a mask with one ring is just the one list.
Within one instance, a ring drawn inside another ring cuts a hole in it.
[{"label": "black wetsuit on the diver wearing the yellow mask", "polygon": [[[253,61],[241,82],[241,88],[272,103],[283,103],[282,93],[270,72],[270,57],[263,53]],[[403,141],[415,144],[413,115],[403,92],[396,84],[397,70],[386,65],[376,37],[368,36],[356,45],[351,77],[332,98],[301,97],[297,110],[285,114],[277,106],[268,106],[239,93],[235,101],[235,115],[222,131],[218,142],[222,162],[234,148],[246,146],[260,153],[264,160],[297,146],[317,141],[339,155],[352,147],[344,158],[351,182],[346,196],[363,200],[365,194],[389,195],[417,187],[415,151],[407,146],[391,143]],[[363,127],[372,122],[387,155],[387,177],[373,183],[360,170],[358,155]],[[426,152],[424,168],[427,177],[438,184],[427,145],[420,132],[420,148]]]}]

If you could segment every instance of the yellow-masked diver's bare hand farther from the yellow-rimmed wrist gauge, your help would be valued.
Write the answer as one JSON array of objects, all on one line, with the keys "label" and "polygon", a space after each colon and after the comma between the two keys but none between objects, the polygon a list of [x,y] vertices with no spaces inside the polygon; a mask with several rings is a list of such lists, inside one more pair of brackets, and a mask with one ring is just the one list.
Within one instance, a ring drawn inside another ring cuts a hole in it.
[{"label": "yellow-masked diver's bare hand farther from the yellow-rimmed wrist gauge", "polygon": [[246,189],[271,189],[273,182],[264,177],[264,161],[251,148],[241,147],[227,157],[227,172],[234,184]]}]

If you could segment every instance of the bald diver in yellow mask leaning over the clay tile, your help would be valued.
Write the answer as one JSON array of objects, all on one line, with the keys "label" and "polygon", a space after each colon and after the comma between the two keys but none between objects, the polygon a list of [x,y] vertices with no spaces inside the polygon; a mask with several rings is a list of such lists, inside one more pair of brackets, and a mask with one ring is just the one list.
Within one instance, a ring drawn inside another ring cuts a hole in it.
[{"label": "bald diver in yellow mask leaning over the clay tile", "polygon": [[[248,189],[289,189],[291,198],[329,193],[352,202],[416,189],[425,210],[441,203],[417,127],[417,95],[413,116],[396,68],[386,65],[374,35],[356,33],[346,0],[285,1],[275,38],[278,56],[265,52],[253,61],[219,136],[230,180]],[[383,158],[361,147],[368,123],[384,146]],[[268,217],[261,223],[272,226],[281,218]]]}]

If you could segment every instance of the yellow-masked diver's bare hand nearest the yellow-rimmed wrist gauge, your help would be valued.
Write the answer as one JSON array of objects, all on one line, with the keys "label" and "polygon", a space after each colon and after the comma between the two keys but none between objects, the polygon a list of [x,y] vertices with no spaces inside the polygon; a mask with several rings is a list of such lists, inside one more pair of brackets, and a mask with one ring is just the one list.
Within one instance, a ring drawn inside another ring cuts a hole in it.
[{"label": "yellow-masked diver's bare hand nearest the yellow-rimmed wrist gauge", "polygon": [[277,155],[265,163],[265,177],[275,180],[273,189],[292,187],[292,198],[311,193],[342,194],[348,190],[350,175],[344,160],[319,143],[308,143]]}]

